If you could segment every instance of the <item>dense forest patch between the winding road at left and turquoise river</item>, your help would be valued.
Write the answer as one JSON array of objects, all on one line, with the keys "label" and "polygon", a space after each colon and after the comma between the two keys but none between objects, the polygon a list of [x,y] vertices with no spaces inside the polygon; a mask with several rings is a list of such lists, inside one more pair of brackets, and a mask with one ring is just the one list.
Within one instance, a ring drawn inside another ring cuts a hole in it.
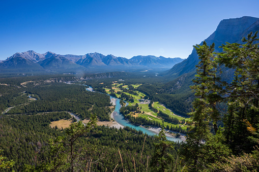
[{"label": "dense forest patch between the winding road at left and turquoise river", "polygon": [[39,112],[68,111],[82,119],[97,114],[101,121],[109,121],[110,99],[108,95],[85,91],[81,85],[41,83],[29,87],[26,92],[39,96],[36,101],[12,108],[7,114],[35,114]]}]

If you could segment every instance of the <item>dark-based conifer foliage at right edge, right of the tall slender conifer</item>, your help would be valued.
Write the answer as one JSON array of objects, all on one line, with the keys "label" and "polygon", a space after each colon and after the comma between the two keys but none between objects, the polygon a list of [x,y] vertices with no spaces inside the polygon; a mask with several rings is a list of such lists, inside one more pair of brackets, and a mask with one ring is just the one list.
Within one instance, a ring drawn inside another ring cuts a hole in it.
[{"label": "dark-based conifer foliage at right edge, right of the tall slender conifer", "polygon": [[[222,45],[223,52],[218,61],[235,70],[232,83],[225,84],[223,97],[228,101],[228,112],[224,115],[227,143],[238,154],[241,150],[250,152],[254,144],[249,144],[251,136],[245,121],[255,127],[259,120],[259,44],[257,32],[250,33],[245,44]],[[225,100],[226,101],[226,100]],[[245,121],[244,121],[245,120]]]}]

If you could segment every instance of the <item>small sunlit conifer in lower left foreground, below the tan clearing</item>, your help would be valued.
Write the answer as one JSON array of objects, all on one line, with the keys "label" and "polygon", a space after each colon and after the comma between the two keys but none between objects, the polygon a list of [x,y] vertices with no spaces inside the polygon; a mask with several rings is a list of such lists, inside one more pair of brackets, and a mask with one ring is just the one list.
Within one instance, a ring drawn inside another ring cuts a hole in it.
[{"label": "small sunlit conifer in lower left foreground, below the tan clearing", "polygon": [[70,124],[70,127],[65,130],[65,136],[50,139],[51,162],[37,167],[26,165],[24,171],[86,171],[90,160],[89,155],[94,151],[94,146],[82,148],[79,151],[75,144],[78,137],[89,134],[97,127],[96,119],[96,116],[92,115],[91,121],[86,125],[82,121]]}]

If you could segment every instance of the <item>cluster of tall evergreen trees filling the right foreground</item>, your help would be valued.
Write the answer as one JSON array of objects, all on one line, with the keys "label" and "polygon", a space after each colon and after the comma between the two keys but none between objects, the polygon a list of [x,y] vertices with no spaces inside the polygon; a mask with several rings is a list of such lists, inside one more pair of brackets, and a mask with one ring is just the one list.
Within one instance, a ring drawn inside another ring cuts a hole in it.
[{"label": "cluster of tall evergreen trees filling the right foreground", "polygon": [[[195,85],[191,87],[196,96],[194,111],[190,113],[193,124],[181,151],[186,169],[227,171],[223,167],[237,160],[237,157],[228,157],[231,154],[242,157],[255,151],[250,157],[258,158],[258,149],[257,152],[255,149],[259,143],[259,47],[256,37],[257,32],[244,38],[245,44],[226,43],[221,46],[223,52],[216,55],[214,44],[208,46],[204,42],[202,46],[194,46],[200,61],[193,80]],[[223,66],[235,72],[233,82],[220,78],[222,74],[218,69]],[[222,104],[227,105],[227,111]],[[223,130],[218,128],[220,120],[223,120]],[[219,167],[216,162],[226,165]],[[239,168],[258,169],[258,165],[244,163]]]}]

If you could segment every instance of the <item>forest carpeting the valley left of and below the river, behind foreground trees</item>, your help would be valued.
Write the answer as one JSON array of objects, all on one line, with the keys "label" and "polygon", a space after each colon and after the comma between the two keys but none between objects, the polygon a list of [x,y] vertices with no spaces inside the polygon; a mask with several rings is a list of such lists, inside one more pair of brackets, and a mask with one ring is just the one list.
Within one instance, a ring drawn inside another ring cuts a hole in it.
[{"label": "forest carpeting the valley left of and below the river, behind foreground trees", "polygon": [[[96,114],[98,120],[110,120],[109,97],[86,91],[83,85],[63,83],[69,82],[69,79],[76,81],[73,77],[58,76],[1,79],[3,114],[0,118],[0,149],[3,150],[1,155],[7,157],[6,162],[15,162],[10,169],[49,171],[46,165],[53,165],[52,160],[55,159],[50,141],[67,138],[69,131],[57,126],[51,128],[50,124],[59,120],[71,121],[71,115],[67,112],[73,112],[81,119],[89,119]],[[113,171],[114,168],[117,171],[130,171],[134,168],[136,171],[143,171],[151,169],[150,162],[156,150],[156,142],[154,136],[129,127],[116,129],[102,126],[79,136],[75,142],[75,151],[79,154],[82,150],[85,151],[84,156],[87,156],[89,164],[81,165],[84,171],[85,168],[90,169],[90,162],[91,171]],[[174,149],[167,151],[177,157],[180,144],[172,145]],[[169,164],[172,168],[174,161]],[[181,168],[181,165],[177,165],[177,168]],[[8,168],[1,170],[10,171]]]}]

